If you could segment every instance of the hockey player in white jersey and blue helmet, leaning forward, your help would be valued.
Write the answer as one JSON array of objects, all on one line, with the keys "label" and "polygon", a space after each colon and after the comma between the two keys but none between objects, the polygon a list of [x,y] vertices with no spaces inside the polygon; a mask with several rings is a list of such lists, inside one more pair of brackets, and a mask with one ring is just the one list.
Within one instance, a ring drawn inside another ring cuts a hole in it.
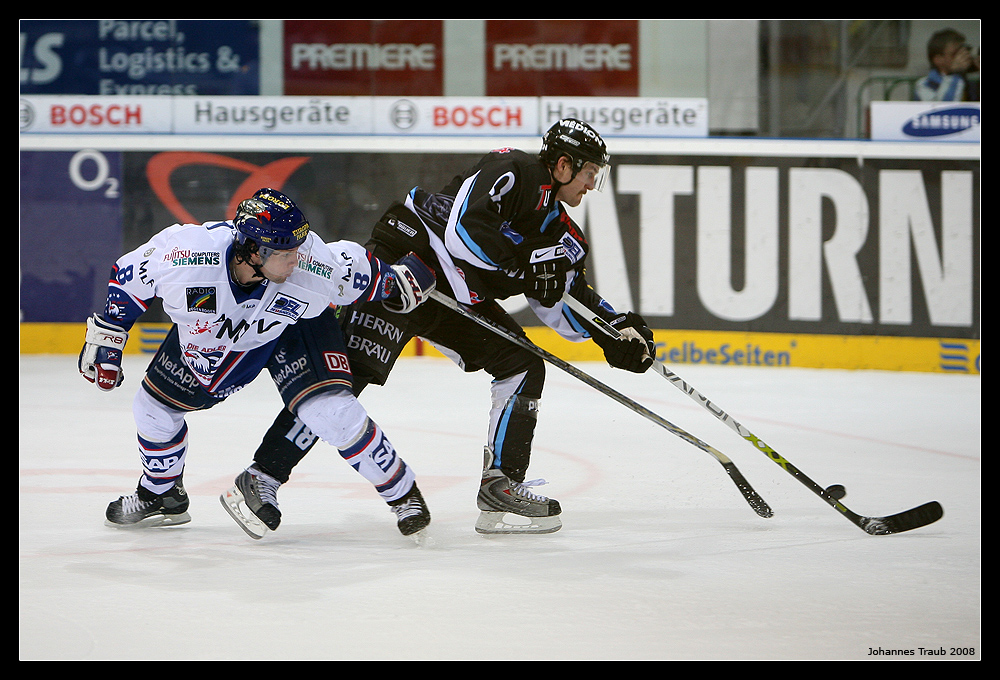
[{"label": "hockey player in white jersey and blue helmet, leaning forward", "polygon": [[[185,414],[211,408],[267,369],[304,437],[319,437],[371,482],[405,535],[430,521],[412,469],[354,397],[338,306],[382,301],[410,312],[434,289],[434,273],[412,253],[395,264],[362,246],[326,244],[284,194],[261,189],[232,221],[174,225],[123,255],[107,305],[87,320],[79,357],[101,390],[122,384],[129,330],[154,298],[173,326],[133,401],[142,476],[112,502],[118,527],[190,521],[183,473]],[[221,496],[252,537],[277,528],[283,479],[254,462]]]}]

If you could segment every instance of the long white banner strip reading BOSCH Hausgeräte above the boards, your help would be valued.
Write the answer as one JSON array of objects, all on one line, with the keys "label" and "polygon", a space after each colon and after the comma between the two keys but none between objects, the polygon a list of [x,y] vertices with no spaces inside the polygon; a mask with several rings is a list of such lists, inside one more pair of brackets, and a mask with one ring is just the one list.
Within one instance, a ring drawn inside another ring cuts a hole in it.
[{"label": "long white banner strip reading BOSCH Hausger\u00e4te above the boards", "polygon": [[605,137],[707,137],[705,99],[22,96],[22,134],[540,136],[579,118]]}]

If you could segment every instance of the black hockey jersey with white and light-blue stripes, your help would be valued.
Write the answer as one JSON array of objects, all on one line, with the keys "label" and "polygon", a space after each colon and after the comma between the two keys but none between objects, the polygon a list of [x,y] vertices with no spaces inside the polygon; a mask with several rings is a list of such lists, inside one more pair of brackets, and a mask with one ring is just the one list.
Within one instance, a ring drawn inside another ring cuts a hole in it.
[{"label": "black hockey jersey with white and light-blue stripes", "polygon": [[[412,189],[403,205],[390,208],[376,225],[372,240],[397,255],[416,252],[436,271],[440,289],[473,305],[528,292],[524,270],[533,254],[565,255],[572,263],[567,288],[612,318],[616,312],[586,283],[589,245],[554,189],[537,155],[498,149],[436,193]],[[591,329],[564,305],[542,308],[530,299],[529,304],[563,337],[590,337]]]}]

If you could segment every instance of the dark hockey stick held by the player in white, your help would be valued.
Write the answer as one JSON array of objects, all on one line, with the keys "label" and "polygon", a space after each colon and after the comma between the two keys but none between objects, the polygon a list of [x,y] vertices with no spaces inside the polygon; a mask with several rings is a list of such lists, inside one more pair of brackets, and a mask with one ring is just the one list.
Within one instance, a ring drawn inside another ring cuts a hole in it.
[{"label": "dark hockey stick held by the player in white", "polygon": [[642,406],[641,404],[638,404],[632,399],[626,397],[624,394],[621,394],[620,392],[617,392],[614,389],[608,387],[607,385],[597,380],[596,378],[591,377],[589,374],[584,373],[583,371],[576,368],[572,364],[563,361],[554,354],[545,351],[541,347],[531,342],[527,337],[517,335],[510,329],[505,328],[497,323],[494,323],[493,321],[490,321],[489,319],[483,317],[479,313],[473,311],[472,309],[469,309],[465,305],[460,304],[456,300],[451,299],[450,297],[439,291],[436,290],[432,291],[430,297],[433,300],[437,300],[448,309],[458,312],[465,318],[471,319],[480,326],[483,326],[484,328],[493,331],[497,335],[501,335],[507,338],[514,344],[522,347],[523,349],[528,350],[532,354],[541,357],[545,361],[548,361],[550,364],[558,368],[561,368],[562,370],[566,371],[573,377],[578,378],[579,380],[582,380],[583,382],[587,383],[588,385],[596,389],[598,392],[601,392],[602,394],[611,397],[618,403],[628,407],[629,409],[635,411],[639,415],[656,423],[660,427],[680,437],[689,444],[692,444],[701,449],[702,451],[708,453],[709,455],[714,457],[717,461],[719,461],[719,463],[722,465],[723,468],[725,468],[726,473],[729,475],[729,478],[733,481],[734,484],[736,484],[736,488],[740,490],[740,493],[743,494],[743,498],[746,499],[746,502],[750,504],[750,507],[753,508],[754,512],[756,512],[761,517],[771,517],[774,514],[774,512],[771,510],[767,502],[764,501],[764,499],[761,498],[756,491],[754,491],[753,487],[750,486],[750,483],[747,482],[746,478],[743,477],[743,473],[741,473],[739,469],[737,469],[733,461],[731,461],[728,457],[726,457],[726,455],[723,454],[721,451],[718,451],[717,449],[701,441],[694,435],[682,430],[681,428],[677,427],[670,421],[665,420],[664,418],[658,416],[645,406]]}]

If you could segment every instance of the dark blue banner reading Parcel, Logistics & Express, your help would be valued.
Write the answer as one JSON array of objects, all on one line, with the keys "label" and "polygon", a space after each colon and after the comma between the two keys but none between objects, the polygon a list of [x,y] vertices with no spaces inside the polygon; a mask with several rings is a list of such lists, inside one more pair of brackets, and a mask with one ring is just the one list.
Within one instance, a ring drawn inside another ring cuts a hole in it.
[{"label": "dark blue banner reading Parcel, Logistics & Express", "polygon": [[254,95],[249,19],[22,19],[22,95]]}]

